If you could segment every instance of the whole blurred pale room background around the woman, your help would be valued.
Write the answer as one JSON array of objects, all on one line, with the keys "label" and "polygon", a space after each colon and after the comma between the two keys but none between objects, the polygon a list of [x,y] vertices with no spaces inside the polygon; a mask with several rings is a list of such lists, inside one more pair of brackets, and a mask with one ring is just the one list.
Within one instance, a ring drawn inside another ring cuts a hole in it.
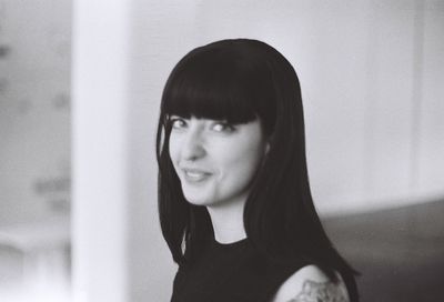
[{"label": "whole blurred pale room background around the woman", "polygon": [[443,30],[441,0],[0,0],[0,301],[169,301],[158,107],[226,38],[299,73],[315,204],[362,301],[444,301]]}]

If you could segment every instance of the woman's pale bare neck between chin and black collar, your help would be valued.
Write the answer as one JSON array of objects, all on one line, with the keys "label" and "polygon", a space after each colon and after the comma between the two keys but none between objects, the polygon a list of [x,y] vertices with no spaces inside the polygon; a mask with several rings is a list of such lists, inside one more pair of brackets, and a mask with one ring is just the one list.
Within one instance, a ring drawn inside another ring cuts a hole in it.
[{"label": "woman's pale bare neck between chin and black collar", "polygon": [[206,207],[219,243],[232,243],[246,238],[243,225],[245,200],[221,207]]}]

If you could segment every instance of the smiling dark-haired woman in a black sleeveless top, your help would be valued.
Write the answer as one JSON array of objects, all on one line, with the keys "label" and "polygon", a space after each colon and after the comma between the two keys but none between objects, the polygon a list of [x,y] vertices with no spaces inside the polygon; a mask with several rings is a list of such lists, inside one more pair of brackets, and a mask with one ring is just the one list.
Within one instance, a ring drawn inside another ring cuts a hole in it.
[{"label": "smiling dark-haired woman in a black sleeveless top", "polygon": [[357,301],[313,205],[297,76],[274,48],[222,40],[180,60],[157,152],[171,301]]}]

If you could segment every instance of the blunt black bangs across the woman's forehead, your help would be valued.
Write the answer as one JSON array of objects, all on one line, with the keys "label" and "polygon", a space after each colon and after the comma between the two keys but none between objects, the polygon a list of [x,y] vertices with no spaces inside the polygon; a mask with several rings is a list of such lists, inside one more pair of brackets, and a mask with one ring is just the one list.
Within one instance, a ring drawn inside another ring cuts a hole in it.
[{"label": "blunt black bangs across the woman's forehead", "polygon": [[162,114],[233,124],[260,118],[270,130],[270,120],[275,119],[275,97],[265,68],[263,60],[254,61],[241,51],[210,49],[189,53],[167,82]]}]

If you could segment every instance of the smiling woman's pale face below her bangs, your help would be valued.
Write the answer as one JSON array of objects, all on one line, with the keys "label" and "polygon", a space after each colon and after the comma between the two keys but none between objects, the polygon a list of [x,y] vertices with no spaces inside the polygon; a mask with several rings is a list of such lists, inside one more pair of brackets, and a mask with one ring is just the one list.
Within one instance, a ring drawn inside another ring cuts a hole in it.
[{"label": "smiling woman's pale face below her bangs", "polygon": [[170,119],[169,151],[185,199],[208,207],[245,201],[268,149],[259,120]]}]

